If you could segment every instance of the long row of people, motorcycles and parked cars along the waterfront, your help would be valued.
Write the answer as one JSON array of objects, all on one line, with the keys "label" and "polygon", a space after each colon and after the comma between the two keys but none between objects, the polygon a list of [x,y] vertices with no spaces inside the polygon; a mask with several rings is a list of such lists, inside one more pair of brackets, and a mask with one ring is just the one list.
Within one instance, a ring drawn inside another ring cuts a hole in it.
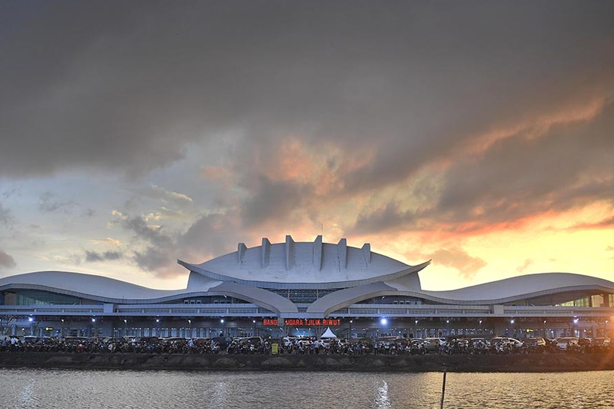
[{"label": "long row of people, motorcycles and parked cars along the waterfront", "polygon": [[[569,341],[562,341],[569,340]],[[426,338],[346,340],[344,338],[157,338],[157,337],[16,337],[0,338],[0,351],[148,354],[336,354],[360,356],[403,354],[513,354],[565,350],[594,353],[610,350],[609,338]]]}]

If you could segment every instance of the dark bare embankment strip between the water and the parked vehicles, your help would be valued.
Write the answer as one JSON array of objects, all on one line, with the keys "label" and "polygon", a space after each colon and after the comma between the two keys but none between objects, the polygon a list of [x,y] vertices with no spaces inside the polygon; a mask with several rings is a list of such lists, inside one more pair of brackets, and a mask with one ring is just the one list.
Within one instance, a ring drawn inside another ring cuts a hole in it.
[{"label": "dark bare embankment strip between the water and the parked vehicles", "polygon": [[614,370],[614,354],[336,356],[0,353],[0,367],[356,372],[565,372]]}]

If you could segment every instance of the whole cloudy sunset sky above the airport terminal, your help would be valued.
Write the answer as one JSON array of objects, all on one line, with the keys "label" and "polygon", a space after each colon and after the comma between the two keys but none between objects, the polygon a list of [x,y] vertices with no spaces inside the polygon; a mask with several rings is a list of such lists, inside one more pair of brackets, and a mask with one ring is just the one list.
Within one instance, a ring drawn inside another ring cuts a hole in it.
[{"label": "whole cloudy sunset sky above the airport terminal", "polygon": [[2,1],[0,277],[336,243],[614,280],[612,1]]}]

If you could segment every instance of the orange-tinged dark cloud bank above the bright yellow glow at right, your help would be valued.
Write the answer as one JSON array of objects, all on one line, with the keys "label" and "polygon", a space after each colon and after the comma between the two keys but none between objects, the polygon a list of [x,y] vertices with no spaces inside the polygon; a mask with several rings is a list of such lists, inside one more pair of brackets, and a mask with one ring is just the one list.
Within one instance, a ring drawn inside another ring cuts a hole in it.
[{"label": "orange-tinged dark cloud bank above the bright yellow glow at right", "polygon": [[[391,202],[362,213],[349,231],[419,229],[429,221],[464,231],[597,201],[614,203],[613,129],[614,102],[608,102],[591,121],[555,126],[536,138],[518,134],[499,140],[479,158],[459,160],[446,170],[433,207],[402,211]],[[611,224],[608,216],[577,227]]]}]

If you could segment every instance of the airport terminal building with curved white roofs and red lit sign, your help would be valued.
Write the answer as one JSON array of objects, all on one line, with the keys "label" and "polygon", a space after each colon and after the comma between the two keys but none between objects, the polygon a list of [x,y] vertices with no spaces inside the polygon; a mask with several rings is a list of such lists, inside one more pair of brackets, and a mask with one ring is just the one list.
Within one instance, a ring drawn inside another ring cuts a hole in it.
[{"label": "airport terminal building with curved white roofs and red lit sign", "polygon": [[[201,264],[187,288],[151,289],[74,272],[0,278],[0,335],[231,337],[596,337],[614,327],[614,283],[540,273],[451,291],[421,288],[417,266],[346,239],[262,245]],[[427,271],[427,270],[426,270]],[[612,317],[612,318],[610,318]]]}]

